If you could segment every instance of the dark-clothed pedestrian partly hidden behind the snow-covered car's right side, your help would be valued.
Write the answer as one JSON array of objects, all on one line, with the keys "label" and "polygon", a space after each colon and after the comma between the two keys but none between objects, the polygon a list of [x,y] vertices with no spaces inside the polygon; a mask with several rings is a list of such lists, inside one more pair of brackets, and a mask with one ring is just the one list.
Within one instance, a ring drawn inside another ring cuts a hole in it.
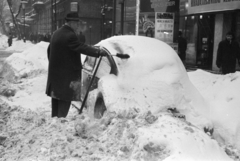
[{"label": "dark-clothed pedestrian partly hidden behind the snow-covered car's right side", "polygon": [[178,31],[178,55],[185,65],[187,40],[182,36],[182,31]]}]

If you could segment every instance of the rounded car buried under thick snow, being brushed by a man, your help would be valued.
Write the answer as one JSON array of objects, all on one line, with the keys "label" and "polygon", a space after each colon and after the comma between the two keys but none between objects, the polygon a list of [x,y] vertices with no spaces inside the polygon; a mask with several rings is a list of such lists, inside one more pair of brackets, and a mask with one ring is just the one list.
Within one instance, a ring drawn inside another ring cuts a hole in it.
[{"label": "rounded car buried under thick snow, being brushed by a man", "polygon": [[[101,118],[106,110],[122,114],[147,111],[156,114],[177,109],[196,125],[209,123],[205,119],[208,118],[208,105],[189,81],[185,67],[168,44],[153,38],[126,35],[105,39],[96,46],[106,48],[111,55],[102,58],[88,95],[86,107],[91,117]],[[117,53],[128,54],[130,58],[112,56]],[[98,60],[86,57],[82,97]]]}]

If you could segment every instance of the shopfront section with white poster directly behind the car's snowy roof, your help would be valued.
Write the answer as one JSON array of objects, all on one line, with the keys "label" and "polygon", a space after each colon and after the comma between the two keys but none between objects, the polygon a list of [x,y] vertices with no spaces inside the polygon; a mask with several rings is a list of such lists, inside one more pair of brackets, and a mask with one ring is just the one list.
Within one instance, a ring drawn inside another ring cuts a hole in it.
[{"label": "shopfront section with white poster directly behind the car's snowy roof", "polygon": [[124,10],[121,2],[122,0],[117,0],[117,34],[120,33],[123,23],[124,35],[156,38],[177,51],[179,0],[125,0]]}]

